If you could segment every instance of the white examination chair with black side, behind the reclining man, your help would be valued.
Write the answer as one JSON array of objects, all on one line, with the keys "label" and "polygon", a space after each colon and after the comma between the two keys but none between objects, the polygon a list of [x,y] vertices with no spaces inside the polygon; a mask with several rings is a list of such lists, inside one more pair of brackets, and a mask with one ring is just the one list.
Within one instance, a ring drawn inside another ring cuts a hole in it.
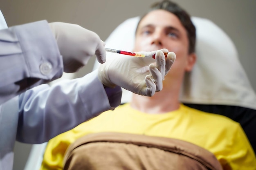
[{"label": "white examination chair with black side, behind the reclining man", "polygon": [[[106,47],[132,51],[139,17],[120,24],[106,40]],[[197,30],[198,60],[185,76],[180,101],[199,110],[225,115],[241,124],[256,150],[256,94],[238,58],[234,43],[216,24],[192,17]],[[107,57],[119,54],[107,53]],[[120,57],[120,56],[117,56]],[[99,66],[96,61],[94,69]],[[69,77],[69,78],[72,78]],[[131,93],[123,89],[121,103],[129,102]],[[37,170],[46,143],[32,146],[25,170]]]}]

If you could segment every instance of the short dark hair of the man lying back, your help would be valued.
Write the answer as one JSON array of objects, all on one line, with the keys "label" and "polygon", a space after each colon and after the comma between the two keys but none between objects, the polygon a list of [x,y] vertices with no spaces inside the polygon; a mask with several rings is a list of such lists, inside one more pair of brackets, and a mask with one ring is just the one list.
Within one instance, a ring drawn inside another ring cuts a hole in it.
[{"label": "short dark hair of the man lying back", "polygon": [[[189,39],[189,53],[195,52],[195,36],[196,36],[195,35],[195,26],[191,21],[190,15],[184,9],[182,9],[179,5],[177,5],[174,2],[171,2],[170,0],[163,0],[161,2],[154,3],[151,6],[149,12],[156,10],[156,9],[163,9],[165,11],[171,12],[174,15],[176,15],[177,18],[179,18],[180,22],[182,23],[182,25],[184,26],[184,28],[186,29],[186,32],[187,32],[187,36]],[[146,15],[141,17],[140,21]],[[140,23],[140,21],[139,21],[139,23]],[[138,25],[139,25],[139,23],[138,23]],[[136,29],[136,32],[137,32],[137,29]]]}]

